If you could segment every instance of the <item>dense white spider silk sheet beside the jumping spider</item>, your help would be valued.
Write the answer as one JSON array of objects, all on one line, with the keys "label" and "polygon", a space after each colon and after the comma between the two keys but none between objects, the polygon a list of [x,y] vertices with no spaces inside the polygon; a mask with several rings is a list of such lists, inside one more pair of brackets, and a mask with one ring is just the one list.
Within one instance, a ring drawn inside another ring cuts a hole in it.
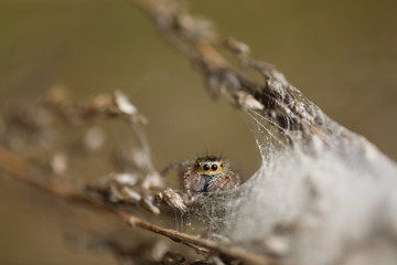
[{"label": "dense white spider silk sheet beside the jumping spider", "polygon": [[219,202],[227,214],[214,237],[294,264],[397,264],[396,163],[329,123],[339,132],[314,152],[301,142],[273,148],[275,135],[258,123],[261,166]]}]

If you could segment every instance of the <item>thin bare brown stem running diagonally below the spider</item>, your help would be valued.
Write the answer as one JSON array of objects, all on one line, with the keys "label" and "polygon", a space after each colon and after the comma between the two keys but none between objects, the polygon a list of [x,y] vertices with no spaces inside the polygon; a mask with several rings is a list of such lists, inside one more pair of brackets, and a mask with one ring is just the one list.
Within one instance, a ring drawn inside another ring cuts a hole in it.
[{"label": "thin bare brown stem running diagonally below the spider", "polygon": [[249,264],[278,264],[278,262],[273,258],[249,253],[246,250],[236,246],[225,246],[218,244],[215,241],[189,235],[171,229],[165,229],[132,215],[126,211],[119,210],[116,206],[110,206],[104,203],[97,197],[93,197],[84,192],[84,187],[72,186],[69,183],[61,182],[55,178],[47,178],[41,174],[40,171],[34,167],[24,162],[18,156],[4,149],[3,147],[0,147],[0,170],[14,177],[18,180],[21,180],[24,183],[32,184],[66,201],[87,205],[95,210],[110,212],[119,216],[124,222],[131,225],[132,227],[137,226],[155,234],[163,235],[195,250],[198,248],[202,252],[206,251],[208,253],[221,253],[237,259],[245,261]]}]

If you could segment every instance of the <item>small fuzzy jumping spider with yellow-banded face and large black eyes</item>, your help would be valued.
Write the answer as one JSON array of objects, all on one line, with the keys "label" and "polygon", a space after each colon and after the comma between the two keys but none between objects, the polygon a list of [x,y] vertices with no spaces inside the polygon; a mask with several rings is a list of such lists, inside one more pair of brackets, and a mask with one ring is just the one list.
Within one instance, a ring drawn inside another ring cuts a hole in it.
[{"label": "small fuzzy jumping spider with yellow-banded face and large black eyes", "polygon": [[218,156],[201,156],[194,160],[183,160],[171,165],[170,169],[179,169],[180,178],[189,197],[192,193],[213,192],[236,188],[240,184],[238,171],[229,161]]}]

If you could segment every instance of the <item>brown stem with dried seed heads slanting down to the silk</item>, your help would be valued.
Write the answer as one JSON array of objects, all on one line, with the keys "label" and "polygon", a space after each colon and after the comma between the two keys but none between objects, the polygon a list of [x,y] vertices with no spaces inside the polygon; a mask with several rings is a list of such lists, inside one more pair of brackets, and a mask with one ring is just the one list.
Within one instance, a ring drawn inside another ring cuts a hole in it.
[{"label": "brown stem with dried seed heads slanting down to the silk", "polygon": [[[224,91],[234,105],[266,117],[292,142],[318,136],[329,145],[329,137],[335,131],[331,126],[324,126],[322,110],[304,98],[273,66],[250,59],[248,45],[215,32],[208,21],[193,17],[176,1],[129,2],[149,14],[163,39],[198,66],[213,96]],[[239,67],[217,52],[218,47],[234,53],[240,62]],[[248,71],[259,73],[262,81],[250,77]]]}]

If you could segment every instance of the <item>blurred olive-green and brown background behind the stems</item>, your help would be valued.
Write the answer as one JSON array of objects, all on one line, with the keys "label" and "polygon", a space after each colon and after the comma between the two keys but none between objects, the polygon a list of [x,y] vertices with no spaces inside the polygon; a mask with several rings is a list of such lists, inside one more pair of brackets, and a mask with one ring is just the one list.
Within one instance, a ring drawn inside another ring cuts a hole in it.
[{"label": "blurred olive-green and brown background behind the stems", "polygon": [[[397,159],[397,2],[195,0],[194,13],[248,43],[329,116]],[[125,0],[0,0],[0,107],[53,85],[76,98],[124,91],[149,118],[159,168],[223,152],[245,176],[259,163],[251,123],[214,103],[201,76]],[[211,130],[203,128],[212,128]],[[116,139],[122,145],[122,139]],[[74,251],[25,187],[0,176],[0,264],[116,264]]]}]

